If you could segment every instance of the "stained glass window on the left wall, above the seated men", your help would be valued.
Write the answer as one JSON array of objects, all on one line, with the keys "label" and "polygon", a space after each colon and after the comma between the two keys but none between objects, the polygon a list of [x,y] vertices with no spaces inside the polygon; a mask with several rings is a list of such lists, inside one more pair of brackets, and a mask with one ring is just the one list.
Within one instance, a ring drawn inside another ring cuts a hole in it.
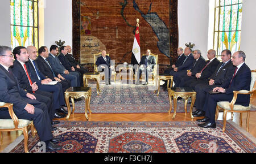
[{"label": "stained glass window on the left wall, above the seated men", "polygon": [[38,48],[38,0],[10,0],[11,47]]}]

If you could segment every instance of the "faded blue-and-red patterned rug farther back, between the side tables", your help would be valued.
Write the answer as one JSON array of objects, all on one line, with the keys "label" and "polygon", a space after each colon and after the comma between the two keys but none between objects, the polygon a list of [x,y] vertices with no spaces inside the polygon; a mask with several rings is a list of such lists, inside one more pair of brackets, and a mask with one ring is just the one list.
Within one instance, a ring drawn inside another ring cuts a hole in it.
[{"label": "faded blue-and-red patterned rug farther back, between the side tables", "polygon": [[[112,82],[112,85],[101,83],[101,92],[98,96],[96,84],[89,83],[89,87],[92,87],[90,110],[92,113],[168,113],[170,109],[168,92],[160,87],[159,96],[156,96],[154,90],[151,89],[152,86],[121,84],[119,82],[116,84]],[[75,113],[84,113],[84,104],[84,99],[76,102]],[[187,106],[188,113],[189,108],[190,104]],[[177,113],[184,112],[184,100],[179,100]]]}]

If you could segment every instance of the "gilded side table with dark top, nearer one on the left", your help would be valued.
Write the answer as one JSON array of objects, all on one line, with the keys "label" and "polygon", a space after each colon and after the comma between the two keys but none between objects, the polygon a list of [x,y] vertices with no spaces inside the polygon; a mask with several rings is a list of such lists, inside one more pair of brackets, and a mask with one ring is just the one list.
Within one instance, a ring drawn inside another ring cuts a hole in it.
[{"label": "gilded side table with dark top, nearer one on the left", "polygon": [[73,110],[72,110],[72,114],[74,114],[75,111],[75,102],[74,102],[74,98],[80,98],[80,97],[84,97],[85,99],[85,117],[88,120],[89,117],[87,115],[88,111],[89,114],[91,114],[90,112],[90,96],[92,95],[92,92],[90,90],[90,87],[70,87],[65,91],[65,102],[67,104],[68,107],[68,115],[66,117],[66,119],[69,119],[69,116],[71,114],[71,107],[69,105],[69,97],[71,97],[71,102],[72,102],[72,106],[73,106]]}]

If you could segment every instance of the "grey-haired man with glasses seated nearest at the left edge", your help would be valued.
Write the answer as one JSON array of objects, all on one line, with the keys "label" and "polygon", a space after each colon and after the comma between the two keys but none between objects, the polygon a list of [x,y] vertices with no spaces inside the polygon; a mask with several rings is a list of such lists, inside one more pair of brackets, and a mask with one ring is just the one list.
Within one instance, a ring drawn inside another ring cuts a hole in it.
[{"label": "grey-haired man with glasses seated nearest at the left edge", "polygon": [[[18,81],[12,73],[13,65],[11,48],[0,46],[0,101],[13,103],[13,110],[19,119],[33,120],[40,141],[46,143],[47,150],[60,150],[56,145],[59,138],[53,138],[51,120],[45,103],[35,100],[35,96],[19,88]],[[1,119],[11,119],[7,109],[0,110]]]}]

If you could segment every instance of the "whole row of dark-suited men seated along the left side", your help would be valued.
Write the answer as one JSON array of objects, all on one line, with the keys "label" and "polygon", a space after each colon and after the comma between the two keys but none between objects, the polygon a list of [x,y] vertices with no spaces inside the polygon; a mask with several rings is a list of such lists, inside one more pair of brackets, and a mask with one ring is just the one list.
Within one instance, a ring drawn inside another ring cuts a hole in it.
[{"label": "whole row of dark-suited men seated along the left side", "polygon": [[[38,51],[34,46],[18,46],[12,53],[11,48],[0,46],[0,101],[13,103],[19,119],[33,120],[48,150],[61,149],[55,144],[60,138],[53,138],[51,131],[56,129],[52,124],[59,123],[53,119],[67,114],[65,90],[80,87],[81,76],[87,72],[71,54],[68,59],[67,46],[61,46],[60,53],[58,49],[52,45],[49,53],[46,46]],[[47,85],[51,81],[59,83]],[[7,109],[0,110],[0,118],[11,119]]]}]

